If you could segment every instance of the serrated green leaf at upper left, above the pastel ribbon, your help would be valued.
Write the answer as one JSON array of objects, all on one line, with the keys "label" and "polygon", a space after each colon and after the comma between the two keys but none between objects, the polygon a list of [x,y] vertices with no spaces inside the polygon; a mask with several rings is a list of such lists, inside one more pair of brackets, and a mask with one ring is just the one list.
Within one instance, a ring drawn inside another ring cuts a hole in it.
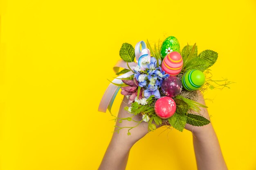
[{"label": "serrated green leaf at upper left, above the pastel ribbon", "polygon": [[119,50],[121,59],[127,62],[133,62],[135,58],[135,50],[131,44],[124,43]]}]

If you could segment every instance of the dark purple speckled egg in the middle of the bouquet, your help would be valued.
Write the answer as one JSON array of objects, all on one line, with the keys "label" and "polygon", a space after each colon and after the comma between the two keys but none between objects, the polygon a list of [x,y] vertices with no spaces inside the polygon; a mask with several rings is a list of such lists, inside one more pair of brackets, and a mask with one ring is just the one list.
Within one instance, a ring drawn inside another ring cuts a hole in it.
[{"label": "dark purple speckled egg in the middle of the bouquet", "polygon": [[166,96],[175,97],[181,93],[182,83],[179,78],[175,76],[169,76],[164,79],[161,89]]}]

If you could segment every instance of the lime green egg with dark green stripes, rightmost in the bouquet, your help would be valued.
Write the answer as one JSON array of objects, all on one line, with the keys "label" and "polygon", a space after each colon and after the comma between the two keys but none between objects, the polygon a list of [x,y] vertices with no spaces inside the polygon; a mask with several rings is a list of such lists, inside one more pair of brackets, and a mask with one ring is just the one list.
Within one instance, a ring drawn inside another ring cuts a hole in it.
[{"label": "lime green egg with dark green stripes, rightmost in the bouquet", "polygon": [[205,76],[200,70],[189,70],[182,76],[182,85],[188,91],[200,89],[204,82]]}]

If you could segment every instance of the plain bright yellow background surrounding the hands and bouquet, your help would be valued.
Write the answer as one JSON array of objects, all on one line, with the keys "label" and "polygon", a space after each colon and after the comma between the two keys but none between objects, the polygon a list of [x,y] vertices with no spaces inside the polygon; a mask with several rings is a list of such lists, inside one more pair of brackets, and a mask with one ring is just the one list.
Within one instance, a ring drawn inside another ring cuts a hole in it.
[{"label": "plain bright yellow background surrounding the hands and bouquet", "polygon": [[[218,52],[213,78],[236,84],[206,94],[211,120],[229,169],[256,169],[255,0],[2,0],[0,7],[1,170],[97,169],[114,126],[97,109],[121,44],[170,35],[181,48],[196,42],[199,52]],[[133,146],[127,170],[196,169],[191,133],[162,131]]]}]

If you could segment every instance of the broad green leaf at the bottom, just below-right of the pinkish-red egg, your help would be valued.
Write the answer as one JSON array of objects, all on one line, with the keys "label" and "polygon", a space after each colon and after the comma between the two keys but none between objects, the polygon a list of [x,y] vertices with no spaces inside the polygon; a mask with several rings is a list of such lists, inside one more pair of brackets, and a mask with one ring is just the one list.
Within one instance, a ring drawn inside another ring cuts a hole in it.
[{"label": "broad green leaf at the bottom, just below-right of the pinkish-red egg", "polygon": [[171,118],[168,118],[168,122],[178,131],[183,131],[186,124],[186,115],[175,112]]}]

